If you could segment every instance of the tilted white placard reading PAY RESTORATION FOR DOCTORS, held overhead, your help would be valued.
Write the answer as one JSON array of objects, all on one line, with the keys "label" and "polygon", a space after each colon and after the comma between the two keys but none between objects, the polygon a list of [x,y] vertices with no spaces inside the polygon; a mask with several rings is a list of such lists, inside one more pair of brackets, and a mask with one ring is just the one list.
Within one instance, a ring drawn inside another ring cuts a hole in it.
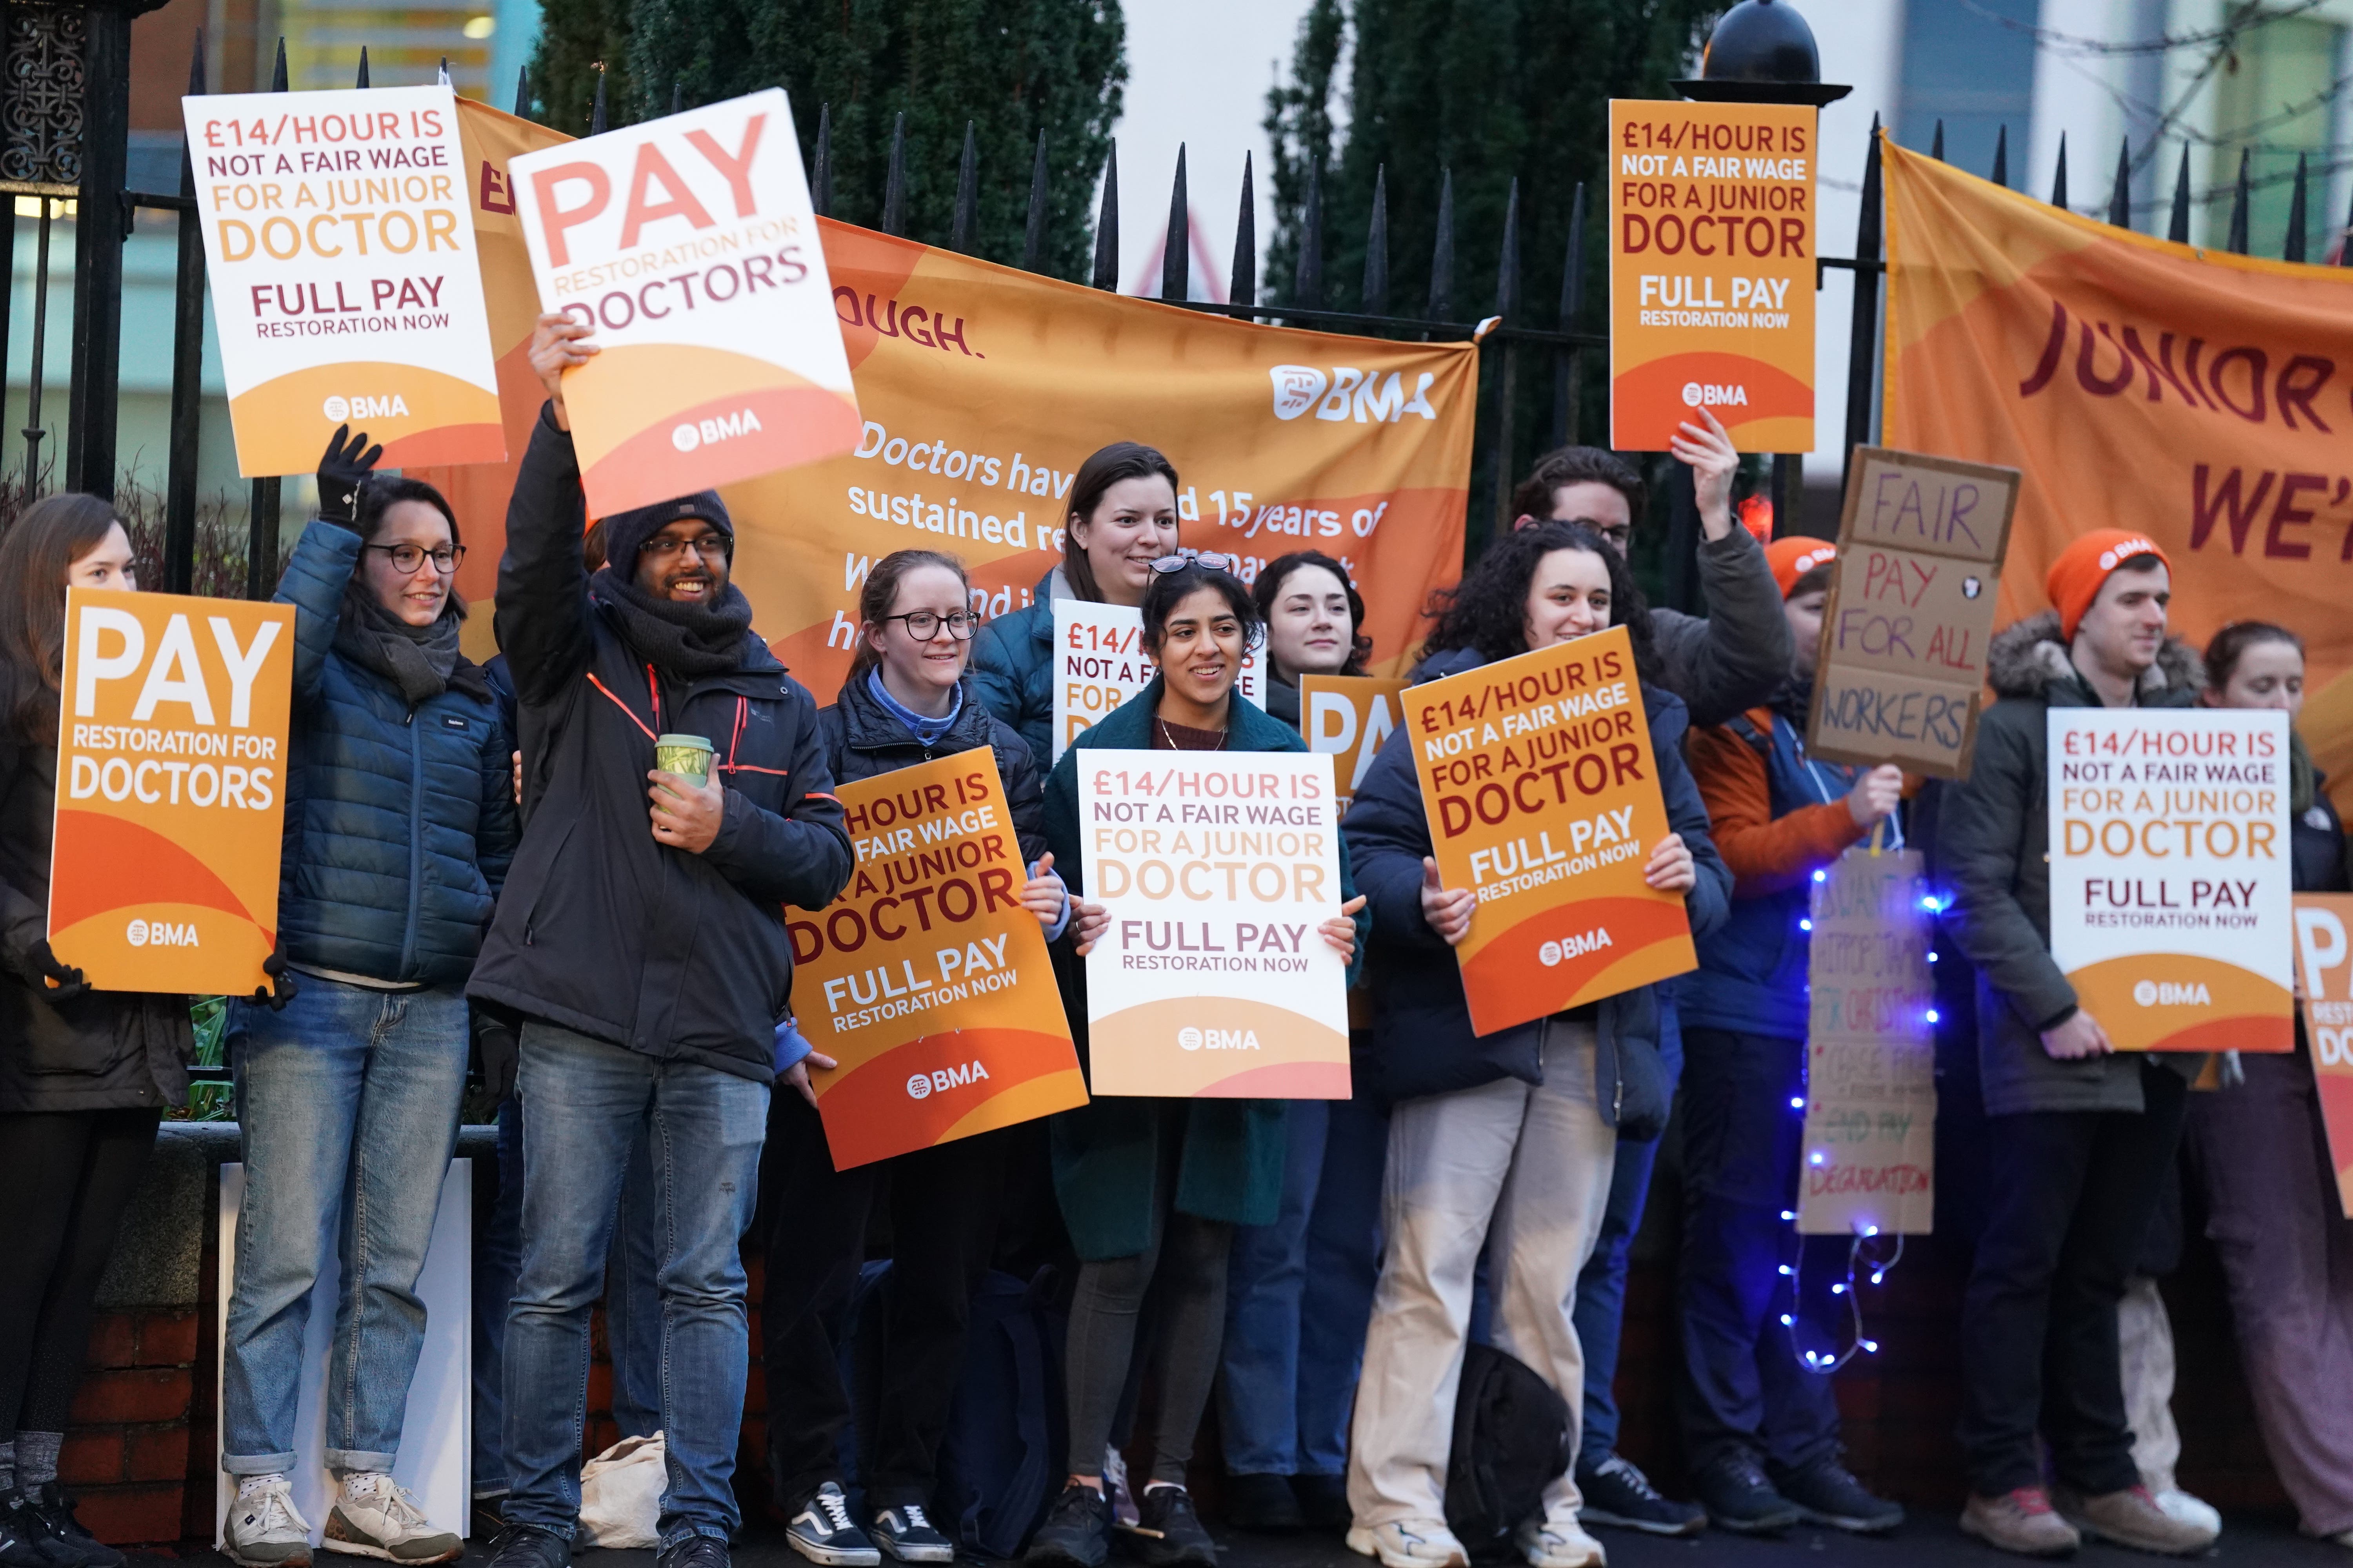
[{"label": "tilted white placard reading PAY RESTORATION FOR DOCTORS, held overhead", "polygon": [[781,87],[513,158],[588,510],[609,515],[859,444],[833,282]]}]

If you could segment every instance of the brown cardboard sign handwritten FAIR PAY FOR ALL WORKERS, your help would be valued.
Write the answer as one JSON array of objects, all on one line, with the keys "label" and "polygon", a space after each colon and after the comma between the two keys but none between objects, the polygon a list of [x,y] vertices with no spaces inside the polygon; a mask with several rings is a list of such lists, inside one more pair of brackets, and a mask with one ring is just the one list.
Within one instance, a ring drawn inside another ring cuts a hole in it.
[{"label": "brown cardboard sign handwritten FAIR PAY FOR ALL WORKERS", "polygon": [[1967,778],[2019,470],[1857,447],[1805,748]]}]

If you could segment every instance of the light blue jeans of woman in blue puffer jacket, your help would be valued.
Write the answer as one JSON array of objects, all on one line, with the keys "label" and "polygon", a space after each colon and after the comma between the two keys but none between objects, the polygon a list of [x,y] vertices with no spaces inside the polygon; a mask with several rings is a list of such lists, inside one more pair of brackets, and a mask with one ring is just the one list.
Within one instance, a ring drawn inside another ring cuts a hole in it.
[{"label": "light blue jeans of woman in blue puffer jacket", "polygon": [[466,999],[301,976],[282,1013],[231,1004],[245,1135],[238,1286],[221,1342],[221,1467],[294,1469],[311,1288],[344,1288],[327,1361],[327,1465],[391,1469],[426,1338],[433,1241],[466,1088]]}]

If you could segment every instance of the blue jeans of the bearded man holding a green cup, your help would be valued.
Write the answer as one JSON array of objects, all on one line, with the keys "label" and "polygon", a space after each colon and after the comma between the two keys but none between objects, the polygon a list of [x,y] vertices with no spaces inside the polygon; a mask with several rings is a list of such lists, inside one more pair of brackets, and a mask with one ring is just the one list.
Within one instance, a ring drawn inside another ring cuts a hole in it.
[{"label": "blue jeans of the bearded man holding a green cup", "polygon": [[736,1432],[751,1335],[736,1251],[760,1192],[767,1084],[522,1025],[522,1274],[506,1319],[506,1521],[579,1526],[588,1312],[602,1288],[638,1126],[661,1241],[661,1549],[741,1523]]}]

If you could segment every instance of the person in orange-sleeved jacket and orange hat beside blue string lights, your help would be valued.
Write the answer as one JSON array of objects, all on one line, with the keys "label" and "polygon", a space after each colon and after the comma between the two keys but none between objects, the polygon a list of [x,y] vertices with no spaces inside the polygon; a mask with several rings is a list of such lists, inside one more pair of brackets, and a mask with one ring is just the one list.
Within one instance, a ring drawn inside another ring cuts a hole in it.
[{"label": "person in orange-sleeved jacket and orange hat beside blue string lights", "polygon": [[[1744,1535],[1798,1521],[1878,1533],[1904,1509],[1838,1462],[1838,1396],[1805,1366],[1791,1237],[1805,1133],[1812,877],[1880,832],[1901,844],[1904,771],[1805,752],[1821,602],[1838,552],[1765,550],[1784,592],[1791,668],[1772,703],[1692,731],[1692,778],[1732,870],[1732,917],[1682,987],[1682,1441],[1708,1521]],[[1838,1237],[1826,1239],[1845,1248]],[[1828,1251],[1826,1246],[1821,1251]]]}]

